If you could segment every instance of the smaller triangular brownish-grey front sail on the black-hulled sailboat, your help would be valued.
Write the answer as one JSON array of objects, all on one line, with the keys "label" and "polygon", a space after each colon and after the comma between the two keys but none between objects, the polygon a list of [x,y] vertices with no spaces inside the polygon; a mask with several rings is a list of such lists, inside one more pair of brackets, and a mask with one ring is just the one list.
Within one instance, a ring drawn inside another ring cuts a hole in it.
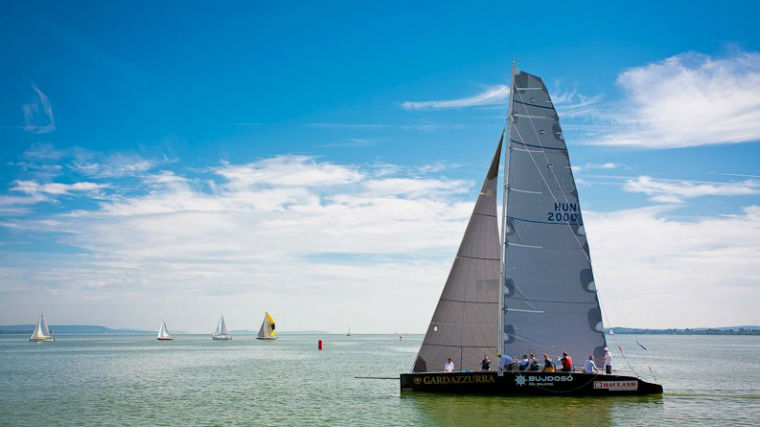
[{"label": "smaller triangular brownish-grey front sail on the black-hulled sailboat", "polygon": [[438,306],[423,339],[413,372],[480,369],[484,354],[498,349],[499,227],[496,188],[504,138],[499,139]]}]

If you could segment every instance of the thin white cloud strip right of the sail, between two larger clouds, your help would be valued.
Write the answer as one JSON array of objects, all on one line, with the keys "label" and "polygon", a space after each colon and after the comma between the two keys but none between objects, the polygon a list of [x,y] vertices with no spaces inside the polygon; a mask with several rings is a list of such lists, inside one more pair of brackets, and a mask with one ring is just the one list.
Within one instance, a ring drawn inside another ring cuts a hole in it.
[{"label": "thin white cloud strip right of the sail, between two larger clouds", "polygon": [[760,181],[745,180],[736,183],[661,180],[647,176],[629,179],[623,184],[623,190],[644,193],[652,201],[679,203],[684,199],[700,196],[742,196],[760,193]]}]

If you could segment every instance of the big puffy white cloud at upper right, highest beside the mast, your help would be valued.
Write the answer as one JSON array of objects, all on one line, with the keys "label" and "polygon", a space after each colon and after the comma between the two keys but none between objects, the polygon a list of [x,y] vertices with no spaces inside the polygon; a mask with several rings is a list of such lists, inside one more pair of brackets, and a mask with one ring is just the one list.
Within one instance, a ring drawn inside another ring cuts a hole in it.
[{"label": "big puffy white cloud at upper right, highest beside the mast", "polygon": [[[760,53],[712,58],[685,53],[618,77],[625,108],[592,144],[693,147],[760,140]],[[599,114],[599,112],[596,112]]]}]

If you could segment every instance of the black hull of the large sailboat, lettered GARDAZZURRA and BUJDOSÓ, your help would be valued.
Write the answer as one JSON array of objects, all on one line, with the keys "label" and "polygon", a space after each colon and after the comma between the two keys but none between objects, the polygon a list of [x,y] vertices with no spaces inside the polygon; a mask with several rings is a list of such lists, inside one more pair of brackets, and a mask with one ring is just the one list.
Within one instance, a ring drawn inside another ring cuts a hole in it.
[{"label": "black hull of the large sailboat, lettered GARDAZZURRA and BUJDOS\u00d3", "polygon": [[401,391],[485,395],[647,395],[662,385],[633,376],[567,372],[404,373]]}]

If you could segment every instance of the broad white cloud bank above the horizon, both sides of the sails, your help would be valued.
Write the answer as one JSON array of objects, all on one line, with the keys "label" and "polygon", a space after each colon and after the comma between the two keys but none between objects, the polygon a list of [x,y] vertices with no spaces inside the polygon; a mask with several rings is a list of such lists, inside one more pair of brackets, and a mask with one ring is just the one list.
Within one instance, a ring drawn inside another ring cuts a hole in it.
[{"label": "broad white cloud bank above the horizon, both sides of the sails", "polygon": [[[351,323],[357,331],[421,331],[475,191],[474,183],[415,178],[405,167],[306,156],[206,172],[211,190],[166,170],[144,176],[140,194],[99,200],[97,209],[6,218],[3,227],[78,251],[2,252],[0,283],[13,304],[0,318],[28,317],[42,301],[56,323],[154,328],[167,318],[175,329],[207,331],[219,311],[233,328],[256,328],[270,310],[285,330]],[[40,185],[24,186],[43,194]],[[666,214],[662,207],[586,214],[610,321],[752,323],[760,208],[694,222]],[[680,306],[701,312],[678,311],[686,315],[675,319],[669,308]],[[728,315],[702,315],[717,311]]]}]

